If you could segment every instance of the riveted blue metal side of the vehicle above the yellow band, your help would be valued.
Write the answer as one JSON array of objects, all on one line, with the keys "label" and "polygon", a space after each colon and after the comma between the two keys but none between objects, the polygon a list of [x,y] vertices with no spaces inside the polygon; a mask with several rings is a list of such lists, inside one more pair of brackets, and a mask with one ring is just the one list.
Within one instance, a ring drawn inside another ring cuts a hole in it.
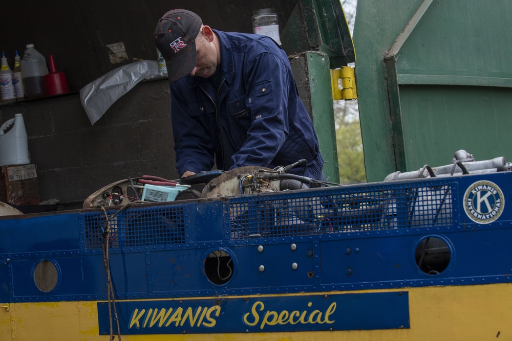
[{"label": "riveted blue metal side of the vehicle above the yellow band", "polygon": [[[496,260],[512,256],[512,211],[473,221],[464,195],[478,181],[501,189],[503,205],[512,196],[512,173],[500,172],[136,205],[110,220],[116,299],[510,282]],[[101,234],[115,212],[0,219],[0,300],[106,300]],[[429,237],[449,251],[435,275],[415,258]],[[34,283],[45,259],[58,271],[49,292]],[[222,259],[230,273],[212,279],[207,270]]]}]

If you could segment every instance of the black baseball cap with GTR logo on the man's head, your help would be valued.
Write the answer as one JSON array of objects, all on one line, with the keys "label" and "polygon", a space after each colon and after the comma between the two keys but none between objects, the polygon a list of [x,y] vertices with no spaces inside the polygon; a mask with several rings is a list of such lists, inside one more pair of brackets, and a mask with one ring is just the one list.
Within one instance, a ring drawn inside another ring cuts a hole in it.
[{"label": "black baseball cap with GTR logo on the man's head", "polygon": [[158,20],[155,45],[167,65],[169,82],[185,77],[196,67],[196,37],[203,21],[187,10],[168,11]]}]

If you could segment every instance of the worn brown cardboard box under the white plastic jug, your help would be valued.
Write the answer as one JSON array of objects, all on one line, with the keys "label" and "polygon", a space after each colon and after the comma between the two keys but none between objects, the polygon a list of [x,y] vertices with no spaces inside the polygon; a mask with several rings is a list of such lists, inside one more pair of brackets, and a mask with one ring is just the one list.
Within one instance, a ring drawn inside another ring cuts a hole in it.
[{"label": "worn brown cardboard box under the white plastic jug", "polygon": [[38,205],[39,181],[36,165],[0,167],[0,201],[13,205]]}]

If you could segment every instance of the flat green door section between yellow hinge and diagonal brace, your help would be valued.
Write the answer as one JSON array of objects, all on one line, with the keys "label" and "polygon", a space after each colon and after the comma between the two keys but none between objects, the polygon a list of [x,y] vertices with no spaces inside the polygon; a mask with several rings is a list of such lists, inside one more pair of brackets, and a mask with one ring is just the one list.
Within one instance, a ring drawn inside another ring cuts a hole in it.
[{"label": "flat green door section between yellow hinge and diagonal brace", "polygon": [[354,25],[356,82],[368,181],[395,169],[393,130],[383,57],[422,0],[358,0]]}]

